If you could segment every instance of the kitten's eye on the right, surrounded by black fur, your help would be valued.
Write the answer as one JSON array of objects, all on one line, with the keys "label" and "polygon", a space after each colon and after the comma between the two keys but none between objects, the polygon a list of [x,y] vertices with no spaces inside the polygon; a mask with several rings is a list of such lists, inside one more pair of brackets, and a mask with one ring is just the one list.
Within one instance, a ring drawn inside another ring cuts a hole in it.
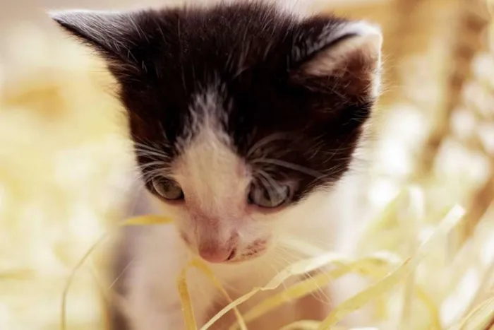
[{"label": "kitten's eye on the right, surrounded by black fur", "polygon": [[287,184],[277,184],[276,187],[268,188],[263,184],[252,184],[248,201],[263,208],[275,208],[286,203],[290,196],[291,189]]}]

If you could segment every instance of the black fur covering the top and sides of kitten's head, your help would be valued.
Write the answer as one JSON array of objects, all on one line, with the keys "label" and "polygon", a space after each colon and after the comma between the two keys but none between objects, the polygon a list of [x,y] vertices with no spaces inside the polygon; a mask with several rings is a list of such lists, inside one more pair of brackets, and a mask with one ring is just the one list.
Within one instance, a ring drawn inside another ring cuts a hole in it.
[{"label": "black fur covering the top and sides of kitten's head", "polygon": [[[327,76],[303,70],[352,37],[331,37],[345,20],[299,20],[258,3],[94,14],[83,25],[64,15],[54,19],[107,60],[133,139],[159,144],[171,161],[181,152],[176,142],[190,134],[194,95],[214,86],[222,97],[215,111],[224,112],[236,152],[254,173],[261,167],[275,179],[296,181],[293,201],[349,169],[374,102],[368,63],[351,57]],[[280,138],[248,157],[270,134]],[[260,156],[276,161],[256,163]]]}]

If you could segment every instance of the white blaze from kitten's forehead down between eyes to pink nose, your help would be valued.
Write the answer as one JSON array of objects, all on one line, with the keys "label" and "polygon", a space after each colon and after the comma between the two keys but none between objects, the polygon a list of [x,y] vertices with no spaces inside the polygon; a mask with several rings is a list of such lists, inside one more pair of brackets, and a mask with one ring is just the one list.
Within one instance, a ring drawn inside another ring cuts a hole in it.
[{"label": "white blaze from kitten's forehead down between eyes to pink nose", "polygon": [[[221,91],[210,88],[191,105],[191,132],[181,141],[183,153],[173,172],[186,196],[183,224],[195,228],[197,240],[227,241],[245,218],[250,177],[234,153],[224,120]],[[217,237],[209,226],[217,226]],[[186,230],[183,228],[183,230]],[[209,232],[208,232],[209,231]],[[189,237],[194,240],[194,237]],[[197,243],[197,242],[196,242]]]}]

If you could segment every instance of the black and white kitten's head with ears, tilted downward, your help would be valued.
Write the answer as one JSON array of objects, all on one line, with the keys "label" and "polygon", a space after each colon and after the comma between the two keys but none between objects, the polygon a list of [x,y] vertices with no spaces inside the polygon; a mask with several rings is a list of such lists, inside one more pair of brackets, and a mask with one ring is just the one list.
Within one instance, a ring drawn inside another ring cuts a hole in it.
[{"label": "black and white kitten's head with ears, tilted downward", "polygon": [[207,261],[302,225],[377,97],[382,38],[362,22],[253,3],[53,17],[106,59],[146,187]]}]

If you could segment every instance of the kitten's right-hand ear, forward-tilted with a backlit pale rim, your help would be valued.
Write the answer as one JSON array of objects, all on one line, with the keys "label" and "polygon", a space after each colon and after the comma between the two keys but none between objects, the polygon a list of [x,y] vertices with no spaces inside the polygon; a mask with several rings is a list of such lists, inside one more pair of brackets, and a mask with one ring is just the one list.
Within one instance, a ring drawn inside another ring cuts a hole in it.
[{"label": "kitten's right-hand ear, forward-tilted with a backlit pale rim", "polygon": [[375,25],[360,21],[327,25],[294,49],[292,58],[299,63],[294,78],[313,90],[329,88],[328,92],[349,97],[376,98],[381,46],[382,34]]}]

